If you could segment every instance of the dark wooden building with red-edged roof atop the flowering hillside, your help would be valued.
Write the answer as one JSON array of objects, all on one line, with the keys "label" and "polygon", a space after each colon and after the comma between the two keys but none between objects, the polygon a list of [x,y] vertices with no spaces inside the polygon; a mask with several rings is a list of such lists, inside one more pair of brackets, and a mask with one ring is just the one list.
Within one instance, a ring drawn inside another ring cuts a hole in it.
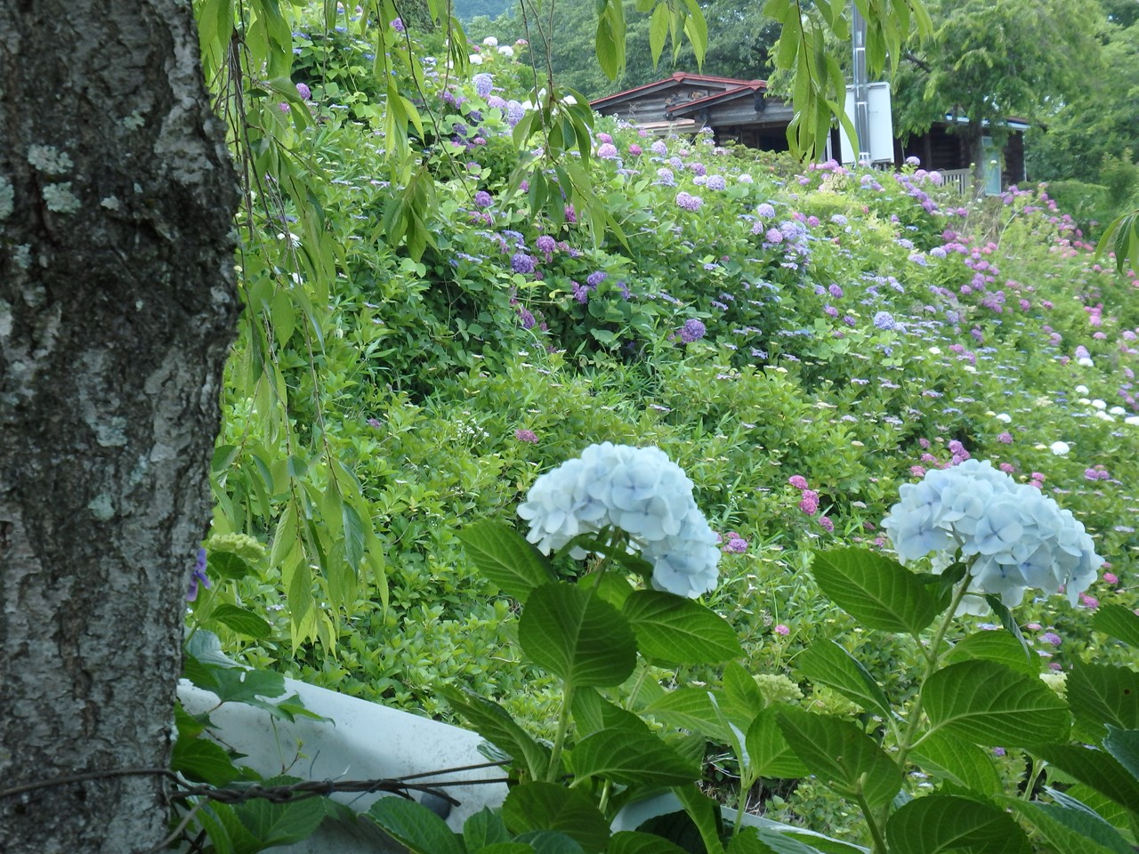
[{"label": "dark wooden building with red-edged roof atop the flowering hillside", "polygon": [[[718,145],[738,142],[768,151],[786,151],[790,105],[768,96],[763,80],[736,80],[708,74],[677,72],[654,83],[598,98],[592,107],[601,115],[615,116],[661,136],[696,133],[711,128]],[[966,121],[966,120],[959,120]],[[935,122],[927,133],[911,136],[903,145],[894,140],[894,165],[916,156],[923,167],[937,170],[962,187],[969,180],[970,153],[964,137],[952,134],[951,120]],[[1001,156],[992,149],[990,159],[1001,164],[999,181],[989,173],[988,192],[1024,180],[1024,131],[1029,125],[1009,121],[1011,131]],[[833,150],[838,150],[838,133],[831,134]]]}]

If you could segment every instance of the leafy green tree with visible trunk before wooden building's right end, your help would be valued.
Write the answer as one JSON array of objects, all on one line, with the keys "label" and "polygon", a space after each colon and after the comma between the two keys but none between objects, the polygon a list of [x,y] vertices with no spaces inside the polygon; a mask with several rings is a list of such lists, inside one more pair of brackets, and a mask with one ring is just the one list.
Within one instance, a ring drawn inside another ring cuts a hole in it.
[{"label": "leafy green tree with visible trunk before wooden building's right end", "polygon": [[933,39],[906,52],[894,79],[895,128],[924,133],[947,115],[965,138],[982,183],[983,139],[999,148],[1003,122],[1036,122],[1056,104],[1083,97],[1098,60],[1098,3],[1072,14],[1063,0],[935,0]]}]

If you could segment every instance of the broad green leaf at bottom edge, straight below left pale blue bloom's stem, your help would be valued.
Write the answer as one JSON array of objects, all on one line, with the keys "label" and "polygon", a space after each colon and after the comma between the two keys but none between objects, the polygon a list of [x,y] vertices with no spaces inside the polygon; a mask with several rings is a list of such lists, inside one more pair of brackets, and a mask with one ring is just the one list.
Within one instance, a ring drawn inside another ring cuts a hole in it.
[{"label": "broad green leaf at bottom edge, straight below left pale blue bloom's stem", "polygon": [[548,782],[519,783],[502,803],[502,819],[515,835],[554,830],[565,834],[587,854],[605,851],[609,823],[577,789]]}]

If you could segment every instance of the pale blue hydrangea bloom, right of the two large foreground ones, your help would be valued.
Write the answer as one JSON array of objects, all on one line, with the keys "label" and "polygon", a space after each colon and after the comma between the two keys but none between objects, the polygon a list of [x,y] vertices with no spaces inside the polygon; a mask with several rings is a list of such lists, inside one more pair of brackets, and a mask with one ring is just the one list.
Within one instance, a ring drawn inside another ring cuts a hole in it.
[{"label": "pale blue hydrangea bloom, right of the two large foreground ones", "polygon": [[1063,588],[1075,605],[1104,564],[1070,510],[988,461],[932,469],[900,494],[882,523],[899,559],[933,555],[941,572],[960,550],[972,576],[962,603],[967,613],[985,613],[981,597],[986,593],[999,596],[1006,607],[1019,605],[1029,588]]}]

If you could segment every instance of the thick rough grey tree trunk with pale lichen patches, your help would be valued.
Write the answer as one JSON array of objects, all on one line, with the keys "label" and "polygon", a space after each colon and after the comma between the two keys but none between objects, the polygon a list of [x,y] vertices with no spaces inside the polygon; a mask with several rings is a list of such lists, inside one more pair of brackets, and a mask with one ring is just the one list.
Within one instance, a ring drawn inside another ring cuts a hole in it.
[{"label": "thick rough grey tree trunk with pale lichen patches", "polygon": [[0,2],[0,852],[142,852],[235,328],[188,0]]}]

